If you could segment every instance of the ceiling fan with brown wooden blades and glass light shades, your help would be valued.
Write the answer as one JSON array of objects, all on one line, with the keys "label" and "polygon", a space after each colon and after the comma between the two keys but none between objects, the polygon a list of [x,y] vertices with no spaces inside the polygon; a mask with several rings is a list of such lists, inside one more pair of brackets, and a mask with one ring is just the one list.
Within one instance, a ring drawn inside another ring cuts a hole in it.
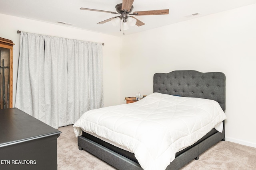
[{"label": "ceiling fan with brown wooden blades and glass light shades", "polygon": [[[128,29],[128,23],[133,26],[142,26],[145,25],[142,21],[138,20],[134,16],[146,16],[146,15],[164,15],[164,14],[169,14],[169,10],[150,10],[150,11],[137,11],[137,12],[132,12],[133,10],[133,2],[134,0],[123,0],[123,3],[117,4],[116,5],[116,11],[117,12],[111,12],[111,11],[104,11],[104,10],[94,10],[90,8],[80,8],[80,10],[89,10],[89,11],[96,11],[96,12],[107,12],[111,14],[121,14],[120,16],[115,16],[112,18],[109,18],[107,20],[98,22],[98,23],[106,23],[108,21],[112,21],[113,25],[118,25],[118,23],[121,23],[121,27],[123,26],[124,30]],[[130,16],[134,15],[134,16]],[[122,29],[120,29],[121,31]]]}]

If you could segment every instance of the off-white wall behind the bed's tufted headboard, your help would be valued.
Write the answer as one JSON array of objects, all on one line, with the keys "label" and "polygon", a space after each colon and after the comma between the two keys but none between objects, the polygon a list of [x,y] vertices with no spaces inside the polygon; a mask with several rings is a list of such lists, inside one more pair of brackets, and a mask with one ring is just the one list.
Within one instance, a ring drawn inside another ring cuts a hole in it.
[{"label": "off-white wall behind the bed's tufted headboard", "polygon": [[226,140],[256,147],[255,18],[256,4],[122,37],[120,102],[152,93],[156,72],[224,72]]}]

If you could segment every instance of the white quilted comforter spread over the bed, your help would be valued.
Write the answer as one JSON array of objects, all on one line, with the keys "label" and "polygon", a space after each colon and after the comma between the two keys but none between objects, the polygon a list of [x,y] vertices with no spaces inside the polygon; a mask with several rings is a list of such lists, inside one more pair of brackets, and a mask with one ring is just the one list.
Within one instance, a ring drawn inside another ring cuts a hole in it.
[{"label": "white quilted comforter spread over the bed", "polygon": [[182,150],[220,124],[226,115],[214,100],[152,93],[131,104],[84,113],[74,124],[131,150],[144,170],[165,170]]}]

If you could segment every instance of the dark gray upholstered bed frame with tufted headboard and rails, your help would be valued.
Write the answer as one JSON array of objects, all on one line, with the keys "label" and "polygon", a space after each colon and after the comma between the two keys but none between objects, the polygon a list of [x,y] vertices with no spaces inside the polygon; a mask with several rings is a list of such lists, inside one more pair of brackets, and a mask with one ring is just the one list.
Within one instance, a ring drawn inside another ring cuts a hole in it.
[{"label": "dark gray upholstered bed frame with tufted headboard and rails", "polygon": [[[178,70],[154,74],[154,92],[183,97],[206,98],[217,101],[225,111],[226,77],[222,72],[202,73],[194,70]],[[224,121],[223,121],[224,124]],[[86,133],[83,133],[86,134]],[[176,153],[166,170],[178,170],[219,141],[225,141],[225,126],[222,133],[212,129],[194,145]],[[84,149],[119,170],[142,170],[140,165],[84,136],[78,137],[78,148]]]}]

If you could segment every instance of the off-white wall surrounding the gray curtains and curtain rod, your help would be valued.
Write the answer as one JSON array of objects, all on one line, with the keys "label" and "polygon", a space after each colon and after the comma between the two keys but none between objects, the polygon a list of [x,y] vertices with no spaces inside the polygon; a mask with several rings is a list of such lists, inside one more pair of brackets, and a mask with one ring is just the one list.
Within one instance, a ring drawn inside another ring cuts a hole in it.
[{"label": "off-white wall surrounding the gray curtains and curtain rod", "polygon": [[[105,43],[103,46],[103,72],[104,72],[104,105],[119,104],[120,80],[119,57],[120,38],[92,31],[85,31],[72,27],[50,24],[35,20],[28,20],[14,16],[0,14],[0,37],[10,39],[15,43],[13,47],[13,102],[15,103],[16,82],[18,70],[18,57],[20,51],[20,34],[18,30],[30,33],[52,35],[70,39]],[[14,104],[13,103],[13,104]],[[13,105],[14,106],[14,105]]]}]

